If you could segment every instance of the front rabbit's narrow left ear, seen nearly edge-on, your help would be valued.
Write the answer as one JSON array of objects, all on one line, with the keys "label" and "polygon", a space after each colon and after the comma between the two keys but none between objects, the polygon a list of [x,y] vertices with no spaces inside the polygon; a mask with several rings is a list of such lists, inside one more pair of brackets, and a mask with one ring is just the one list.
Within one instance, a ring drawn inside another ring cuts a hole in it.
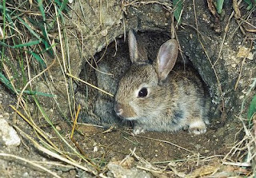
[{"label": "front rabbit's narrow left ear, seen nearly edge-on", "polygon": [[135,61],[138,61],[138,45],[137,45],[137,40],[135,38],[133,30],[129,31],[128,43],[129,43],[130,61],[134,63]]}]

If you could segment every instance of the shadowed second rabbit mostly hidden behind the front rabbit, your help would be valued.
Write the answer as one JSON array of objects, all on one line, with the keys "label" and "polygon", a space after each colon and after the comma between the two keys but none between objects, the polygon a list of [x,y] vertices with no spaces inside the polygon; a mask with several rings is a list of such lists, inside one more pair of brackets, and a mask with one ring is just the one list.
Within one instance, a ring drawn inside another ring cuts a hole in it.
[{"label": "shadowed second rabbit mostly hidden behind the front rabbit", "polygon": [[[155,58],[159,46],[166,41],[166,38],[170,37],[165,33],[143,32],[138,34],[137,40],[143,44],[143,48],[140,48],[138,44],[142,57],[145,56],[145,60]],[[152,42],[154,42],[154,45],[152,45]],[[96,53],[94,58],[85,61],[79,77],[108,93],[114,94],[118,89],[118,81],[131,65],[127,56],[129,56],[127,40],[117,38],[102,52]],[[82,111],[79,114],[82,122],[102,125],[104,128],[113,125],[130,126],[132,124],[130,121],[120,119],[114,113],[114,97],[110,97],[97,89],[90,88],[87,85],[78,85],[75,99],[76,103],[82,106]]]}]

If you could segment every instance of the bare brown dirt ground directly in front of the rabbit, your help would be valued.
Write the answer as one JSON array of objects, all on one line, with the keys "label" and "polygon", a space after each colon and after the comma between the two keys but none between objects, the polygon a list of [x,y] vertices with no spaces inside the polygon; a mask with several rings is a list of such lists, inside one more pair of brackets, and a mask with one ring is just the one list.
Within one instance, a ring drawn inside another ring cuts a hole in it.
[{"label": "bare brown dirt ground directly in front of the rabbit", "polygon": [[78,143],[82,143],[82,148],[91,158],[104,157],[106,162],[111,159],[122,160],[130,154],[130,150],[136,148],[138,156],[150,163],[161,163],[183,160],[198,154],[205,157],[223,155],[234,143],[234,135],[238,132],[239,126],[237,125],[237,129],[230,129],[229,125],[222,129],[210,128],[202,135],[191,135],[187,131],[180,131],[178,133],[149,132],[138,136],[134,136],[130,129],[119,128],[103,133],[103,129],[81,126],[79,130],[85,133],[86,138],[81,139],[80,136],[76,136],[76,139]]}]

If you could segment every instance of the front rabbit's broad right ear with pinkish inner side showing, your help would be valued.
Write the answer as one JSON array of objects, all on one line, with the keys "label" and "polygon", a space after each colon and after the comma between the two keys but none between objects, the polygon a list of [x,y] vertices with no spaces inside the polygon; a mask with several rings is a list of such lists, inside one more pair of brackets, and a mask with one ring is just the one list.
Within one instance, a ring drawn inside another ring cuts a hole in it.
[{"label": "front rabbit's broad right ear with pinkish inner side showing", "polygon": [[170,70],[174,68],[178,57],[178,43],[174,39],[170,39],[161,45],[158,51],[157,71],[159,81],[164,81]]}]

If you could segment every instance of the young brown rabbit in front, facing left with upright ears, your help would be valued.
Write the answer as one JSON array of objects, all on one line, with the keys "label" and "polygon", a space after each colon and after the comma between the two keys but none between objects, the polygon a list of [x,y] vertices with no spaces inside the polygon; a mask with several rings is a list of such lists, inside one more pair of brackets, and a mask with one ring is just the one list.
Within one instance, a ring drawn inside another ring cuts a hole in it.
[{"label": "young brown rabbit in front, facing left with upright ears", "polygon": [[[133,30],[128,34],[130,69],[119,81],[114,111],[134,121],[135,135],[145,131],[206,133],[209,101],[201,79],[192,69],[174,70],[178,43],[170,39],[150,64],[138,45]],[[144,56],[143,56],[144,55]]]}]

